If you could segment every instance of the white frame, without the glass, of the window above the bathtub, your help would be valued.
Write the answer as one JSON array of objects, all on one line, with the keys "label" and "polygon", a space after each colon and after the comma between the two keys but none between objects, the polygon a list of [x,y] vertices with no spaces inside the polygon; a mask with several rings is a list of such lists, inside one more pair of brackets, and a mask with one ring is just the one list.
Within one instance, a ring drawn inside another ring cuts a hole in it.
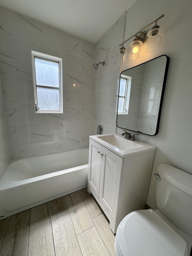
[{"label": "white frame, without the glass, of the window above the bathtub", "polygon": [[[45,53],[39,53],[36,51],[31,51],[32,53],[32,70],[33,70],[33,87],[34,87],[34,98],[35,98],[35,113],[63,113],[63,76],[62,76],[62,58],[51,56]],[[45,59],[46,61],[57,62],[59,66],[59,87],[52,86],[42,86],[37,85],[36,82],[36,72],[35,72],[35,57],[39,59]],[[59,90],[59,102],[60,110],[38,110],[38,97],[37,88],[47,88],[47,89],[57,89]]]}]

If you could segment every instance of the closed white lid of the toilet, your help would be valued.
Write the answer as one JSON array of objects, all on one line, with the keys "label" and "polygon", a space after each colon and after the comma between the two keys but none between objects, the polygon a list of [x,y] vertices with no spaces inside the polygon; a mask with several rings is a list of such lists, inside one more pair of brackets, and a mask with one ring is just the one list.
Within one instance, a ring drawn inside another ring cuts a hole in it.
[{"label": "closed white lid of the toilet", "polygon": [[131,212],[121,221],[116,247],[123,256],[188,256],[186,242],[152,209]]}]

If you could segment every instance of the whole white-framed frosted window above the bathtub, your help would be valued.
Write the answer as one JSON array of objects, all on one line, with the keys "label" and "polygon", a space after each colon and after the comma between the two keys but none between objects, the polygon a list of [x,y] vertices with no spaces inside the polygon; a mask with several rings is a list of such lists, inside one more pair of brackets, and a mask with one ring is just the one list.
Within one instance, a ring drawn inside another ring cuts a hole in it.
[{"label": "whole white-framed frosted window above the bathtub", "polygon": [[32,51],[36,113],[63,113],[62,59]]}]

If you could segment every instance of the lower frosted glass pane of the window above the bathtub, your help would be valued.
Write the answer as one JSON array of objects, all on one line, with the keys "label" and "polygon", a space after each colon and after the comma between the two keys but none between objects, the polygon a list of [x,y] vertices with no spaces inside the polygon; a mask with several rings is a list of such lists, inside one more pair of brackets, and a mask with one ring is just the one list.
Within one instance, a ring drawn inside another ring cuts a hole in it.
[{"label": "lower frosted glass pane of the window above the bathtub", "polygon": [[39,110],[60,110],[59,90],[37,87]]}]

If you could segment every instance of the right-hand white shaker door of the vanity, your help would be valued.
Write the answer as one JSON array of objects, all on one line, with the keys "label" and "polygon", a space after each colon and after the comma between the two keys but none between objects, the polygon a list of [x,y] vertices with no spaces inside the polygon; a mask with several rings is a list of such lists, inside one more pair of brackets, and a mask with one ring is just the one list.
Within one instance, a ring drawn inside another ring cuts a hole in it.
[{"label": "right-hand white shaker door of the vanity", "polygon": [[116,220],[123,158],[102,147],[99,199]]}]

